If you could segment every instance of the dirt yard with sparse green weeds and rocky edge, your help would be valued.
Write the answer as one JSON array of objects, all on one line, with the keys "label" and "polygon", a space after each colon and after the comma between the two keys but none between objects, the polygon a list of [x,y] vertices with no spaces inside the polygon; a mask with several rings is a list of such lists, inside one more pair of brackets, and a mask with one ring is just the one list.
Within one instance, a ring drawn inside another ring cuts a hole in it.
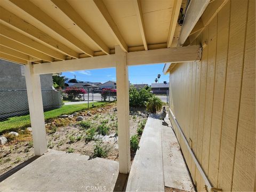
[{"label": "dirt yard with sparse green weeds and rocky edge", "polygon": [[[116,103],[94,107],[74,115],[46,122],[48,148],[92,158],[100,155],[118,161]],[[76,121],[78,116],[82,116],[83,121]],[[138,127],[142,122],[146,123],[147,117],[145,109],[131,108],[131,135],[137,134]],[[26,129],[18,133],[18,137],[7,138],[12,141],[1,146],[0,175],[34,156],[31,132]]]}]

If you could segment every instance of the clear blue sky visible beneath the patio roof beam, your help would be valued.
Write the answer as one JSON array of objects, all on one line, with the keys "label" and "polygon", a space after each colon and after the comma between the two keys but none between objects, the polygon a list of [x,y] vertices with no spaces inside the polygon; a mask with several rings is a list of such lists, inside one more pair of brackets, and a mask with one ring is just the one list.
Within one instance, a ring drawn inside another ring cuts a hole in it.
[{"label": "clear blue sky visible beneath the patio roof beam", "polygon": [[[159,79],[160,83],[163,81],[169,82],[169,75],[163,75],[164,64],[156,65],[141,65],[141,66],[131,66],[129,67],[129,80],[132,84],[151,84],[155,83],[155,78],[157,74],[161,74]],[[83,70],[83,71],[70,71],[62,73],[63,76],[68,78],[74,78],[80,81],[90,81],[90,82],[101,82],[106,81],[116,81],[116,69],[94,69],[94,70]]]}]

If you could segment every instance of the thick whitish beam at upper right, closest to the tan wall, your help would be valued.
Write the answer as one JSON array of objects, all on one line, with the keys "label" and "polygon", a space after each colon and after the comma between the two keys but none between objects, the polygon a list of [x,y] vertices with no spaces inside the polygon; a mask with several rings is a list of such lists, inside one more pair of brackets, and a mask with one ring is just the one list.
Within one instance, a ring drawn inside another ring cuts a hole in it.
[{"label": "thick whitish beam at upper right, closest to the tan wall", "polygon": [[198,1],[191,0],[186,10],[186,15],[183,21],[183,25],[180,31],[179,45],[183,45],[188,38],[189,34],[195,27],[197,21],[204,13],[210,0]]}]

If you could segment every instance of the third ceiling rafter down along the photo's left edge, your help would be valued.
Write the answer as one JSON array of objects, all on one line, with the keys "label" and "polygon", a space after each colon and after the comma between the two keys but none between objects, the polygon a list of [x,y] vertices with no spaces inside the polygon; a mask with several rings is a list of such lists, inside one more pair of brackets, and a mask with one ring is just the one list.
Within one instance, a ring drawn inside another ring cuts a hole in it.
[{"label": "third ceiling rafter down along the photo's left edge", "polygon": [[[15,51],[19,51],[21,53],[27,54],[27,55],[31,55],[35,58],[44,60],[44,61],[49,61],[52,62],[53,58],[50,57],[49,55],[46,55],[44,53],[41,53],[39,51],[36,51],[34,49],[31,49],[30,47],[17,43],[9,38],[6,38],[2,35],[0,35],[0,44],[6,47],[9,47],[10,49],[13,49]],[[37,59],[37,60],[38,60]]]}]

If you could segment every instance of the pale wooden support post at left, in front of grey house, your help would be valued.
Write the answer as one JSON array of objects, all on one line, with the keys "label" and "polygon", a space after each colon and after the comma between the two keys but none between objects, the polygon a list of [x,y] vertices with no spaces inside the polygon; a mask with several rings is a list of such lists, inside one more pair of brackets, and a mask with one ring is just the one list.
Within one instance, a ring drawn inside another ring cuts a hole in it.
[{"label": "pale wooden support post at left, in front of grey house", "polygon": [[35,155],[41,156],[47,152],[43,100],[40,76],[34,75],[33,65],[31,62],[28,62],[28,65],[25,66],[25,77],[34,151]]}]

